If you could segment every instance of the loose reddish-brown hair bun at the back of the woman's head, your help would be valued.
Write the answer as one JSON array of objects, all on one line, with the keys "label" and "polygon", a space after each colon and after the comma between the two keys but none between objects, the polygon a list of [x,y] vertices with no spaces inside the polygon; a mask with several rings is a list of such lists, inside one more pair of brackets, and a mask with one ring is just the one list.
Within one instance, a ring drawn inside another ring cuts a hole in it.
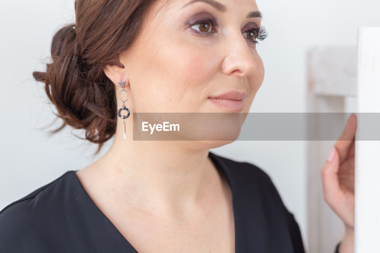
[{"label": "loose reddish-brown hair bun at the back of the woman's head", "polygon": [[58,111],[54,114],[63,120],[52,133],[66,125],[83,128],[85,139],[99,144],[98,153],[116,130],[115,87],[105,75],[94,79],[88,74],[89,66],[79,57],[75,24],[65,25],[55,33],[51,57],[46,72],[35,71],[33,77],[44,82],[47,97]]}]

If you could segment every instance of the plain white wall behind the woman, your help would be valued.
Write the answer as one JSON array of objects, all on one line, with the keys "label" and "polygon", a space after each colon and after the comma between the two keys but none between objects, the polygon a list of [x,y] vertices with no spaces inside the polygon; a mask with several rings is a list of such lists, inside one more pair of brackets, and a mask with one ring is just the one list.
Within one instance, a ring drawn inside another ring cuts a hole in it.
[{"label": "plain white wall behind the woman", "polygon": [[[358,27],[380,26],[380,1],[375,0],[256,2],[269,36],[256,47],[265,78],[251,112],[305,112],[307,48],[353,45]],[[46,130],[39,129],[55,116],[32,72],[44,70],[41,60],[50,55],[52,36],[73,21],[73,9],[74,0],[2,3],[0,209],[65,171],[81,169],[96,159],[91,155],[97,146],[71,134],[82,131],[68,128],[48,138]],[[307,244],[306,142],[236,141],[214,152],[250,161],[266,171],[294,213]]]}]

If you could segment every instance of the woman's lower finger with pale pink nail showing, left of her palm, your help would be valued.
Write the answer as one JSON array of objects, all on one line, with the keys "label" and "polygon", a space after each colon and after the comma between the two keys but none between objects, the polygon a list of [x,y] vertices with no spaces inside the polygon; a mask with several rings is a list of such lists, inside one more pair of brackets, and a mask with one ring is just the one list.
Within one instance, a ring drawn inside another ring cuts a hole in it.
[{"label": "woman's lower finger with pale pink nail showing, left of her palm", "polygon": [[[333,153],[331,153],[333,152]],[[328,153],[328,158],[325,165],[321,169],[323,196],[325,201],[333,208],[337,204],[338,199],[344,199],[344,193],[339,186],[338,170],[339,170],[339,156],[337,150],[332,147]]]}]

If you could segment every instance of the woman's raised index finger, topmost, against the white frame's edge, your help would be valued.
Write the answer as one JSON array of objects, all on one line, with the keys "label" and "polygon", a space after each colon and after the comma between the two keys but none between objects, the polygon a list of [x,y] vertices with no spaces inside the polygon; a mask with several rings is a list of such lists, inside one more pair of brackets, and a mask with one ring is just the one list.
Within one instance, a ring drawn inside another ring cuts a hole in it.
[{"label": "woman's raised index finger, topmost, against the white frame's edge", "polygon": [[350,145],[355,138],[356,124],[356,115],[351,114],[347,119],[342,134],[340,134],[337,142],[335,143],[335,148],[339,153],[340,161],[343,161],[347,158],[348,151],[350,150]]}]

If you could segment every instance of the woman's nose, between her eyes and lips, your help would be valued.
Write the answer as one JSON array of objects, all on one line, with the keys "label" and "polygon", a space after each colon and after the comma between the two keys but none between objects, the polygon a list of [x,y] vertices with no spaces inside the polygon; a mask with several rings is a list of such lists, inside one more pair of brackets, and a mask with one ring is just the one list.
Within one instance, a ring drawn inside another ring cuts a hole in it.
[{"label": "woman's nose, between her eyes and lips", "polygon": [[256,62],[252,51],[253,45],[245,40],[241,32],[229,32],[225,36],[226,57],[222,64],[222,70],[227,75],[237,75],[240,77],[250,76],[256,69]]}]

